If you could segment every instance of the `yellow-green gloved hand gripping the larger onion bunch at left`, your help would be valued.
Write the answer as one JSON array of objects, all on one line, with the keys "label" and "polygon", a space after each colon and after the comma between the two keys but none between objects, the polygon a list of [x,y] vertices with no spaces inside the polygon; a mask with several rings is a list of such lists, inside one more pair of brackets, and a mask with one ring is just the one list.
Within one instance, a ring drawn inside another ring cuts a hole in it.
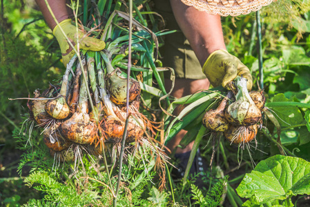
[{"label": "yellow-green gloved hand gripping the larger onion bunch at left", "polygon": [[[65,19],[59,23],[59,26],[64,30],[65,34],[68,36],[73,46],[76,48],[76,39],[77,39],[77,28],[72,25],[71,19]],[[64,66],[67,66],[67,63],[75,55],[75,51],[70,47],[66,37],[61,32],[59,26],[57,25],[52,33],[55,35],[61,50],[61,55],[63,59]],[[84,37],[84,33],[79,30],[79,48],[83,50],[92,50],[99,51],[103,50],[106,47],[106,43],[99,39],[93,37]]]}]

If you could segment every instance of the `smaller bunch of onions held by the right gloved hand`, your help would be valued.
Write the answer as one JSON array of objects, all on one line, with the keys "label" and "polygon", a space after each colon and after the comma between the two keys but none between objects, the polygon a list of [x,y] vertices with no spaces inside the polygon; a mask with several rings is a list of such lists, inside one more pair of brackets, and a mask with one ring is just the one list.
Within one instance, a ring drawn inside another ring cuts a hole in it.
[{"label": "smaller bunch of onions held by the right gloved hand", "polygon": [[[255,139],[258,134],[258,122],[262,118],[264,102],[262,92],[248,92],[246,79],[236,79],[238,92],[235,101],[232,101],[232,92],[222,99],[216,109],[207,111],[202,124],[213,133],[224,133],[224,136],[233,144],[245,144]],[[228,104],[231,101],[231,104]]]}]

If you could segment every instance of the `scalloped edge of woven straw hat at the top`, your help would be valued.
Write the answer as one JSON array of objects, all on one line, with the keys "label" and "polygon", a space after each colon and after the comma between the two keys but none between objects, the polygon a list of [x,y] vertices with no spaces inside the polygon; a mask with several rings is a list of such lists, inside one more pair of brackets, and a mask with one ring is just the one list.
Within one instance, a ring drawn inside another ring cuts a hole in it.
[{"label": "scalloped edge of woven straw hat at the top", "polygon": [[181,0],[187,6],[193,6],[197,10],[221,16],[238,16],[257,11],[262,6],[267,6],[273,0]]}]

